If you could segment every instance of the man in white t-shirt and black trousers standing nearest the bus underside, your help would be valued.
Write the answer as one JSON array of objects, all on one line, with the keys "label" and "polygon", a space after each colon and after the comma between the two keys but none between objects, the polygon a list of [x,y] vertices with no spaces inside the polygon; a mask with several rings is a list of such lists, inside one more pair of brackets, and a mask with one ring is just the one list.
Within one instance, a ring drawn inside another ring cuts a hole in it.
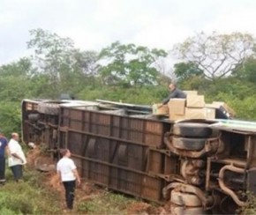
[{"label": "man in white t-shirt and black trousers standing nearest the bus underside", "polygon": [[76,181],[80,184],[80,177],[74,161],[70,159],[71,152],[68,149],[61,150],[63,156],[56,164],[59,179],[64,184],[66,204],[69,210],[73,208]]}]

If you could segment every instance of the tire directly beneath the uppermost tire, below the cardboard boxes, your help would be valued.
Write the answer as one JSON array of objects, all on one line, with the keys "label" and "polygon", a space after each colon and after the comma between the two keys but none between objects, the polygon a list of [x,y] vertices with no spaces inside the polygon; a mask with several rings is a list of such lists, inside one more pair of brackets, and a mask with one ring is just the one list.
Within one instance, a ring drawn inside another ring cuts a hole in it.
[{"label": "tire directly beneath the uppermost tire, below the cardboard boxes", "polygon": [[172,137],[172,145],[177,149],[200,151],[205,147],[207,139],[205,138],[184,138]]}]

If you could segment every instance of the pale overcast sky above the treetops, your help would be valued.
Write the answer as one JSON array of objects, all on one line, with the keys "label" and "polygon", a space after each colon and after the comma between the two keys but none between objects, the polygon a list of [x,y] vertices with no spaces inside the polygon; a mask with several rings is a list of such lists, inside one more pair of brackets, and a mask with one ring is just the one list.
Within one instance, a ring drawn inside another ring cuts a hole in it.
[{"label": "pale overcast sky above the treetops", "polygon": [[0,0],[0,65],[27,55],[35,28],[84,50],[113,41],[169,50],[201,31],[256,35],[255,24],[256,0]]}]

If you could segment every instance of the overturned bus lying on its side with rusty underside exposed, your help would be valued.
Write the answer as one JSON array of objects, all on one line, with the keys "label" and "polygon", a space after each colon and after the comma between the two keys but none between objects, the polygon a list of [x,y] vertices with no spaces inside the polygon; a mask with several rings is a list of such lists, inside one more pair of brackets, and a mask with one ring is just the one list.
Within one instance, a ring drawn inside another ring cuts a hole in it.
[{"label": "overturned bus lying on its side with rusty underside exposed", "polygon": [[171,122],[147,106],[23,100],[22,131],[49,152],[69,148],[88,181],[168,203],[172,214],[234,213],[256,191],[254,122]]}]

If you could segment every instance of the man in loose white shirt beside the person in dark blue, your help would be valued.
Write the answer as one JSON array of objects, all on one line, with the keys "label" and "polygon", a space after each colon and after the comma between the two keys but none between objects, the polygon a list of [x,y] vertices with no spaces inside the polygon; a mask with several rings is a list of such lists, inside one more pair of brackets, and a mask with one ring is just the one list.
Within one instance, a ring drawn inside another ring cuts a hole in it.
[{"label": "man in loose white shirt beside the person in dark blue", "polygon": [[11,172],[14,176],[16,182],[19,182],[19,179],[22,178],[22,165],[26,164],[26,157],[22,151],[21,146],[19,145],[19,134],[12,133],[11,140],[8,143],[10,157],[8,159],[9,167],[11,167]]}]

